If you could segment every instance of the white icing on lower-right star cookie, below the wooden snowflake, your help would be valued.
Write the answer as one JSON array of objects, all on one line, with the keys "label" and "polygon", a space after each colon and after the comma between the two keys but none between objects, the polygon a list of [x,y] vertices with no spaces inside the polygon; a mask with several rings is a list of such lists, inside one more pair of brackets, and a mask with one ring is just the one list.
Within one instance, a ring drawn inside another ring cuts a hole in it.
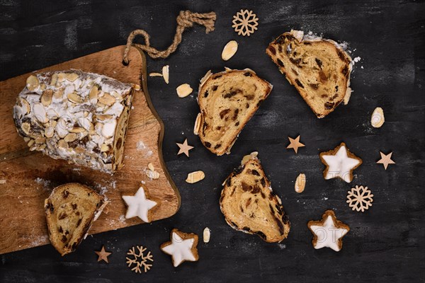
[{"label": "white icing on lower-right star cookie, below the wooden snowflake", "polygon": [[342,238],[348,231],[344,228],[336,228],[334,220],[329,215],[323,226],[312,225],[310,229],[317,236],[315,249],[331,248],[332,250],[339,251],[339,239]]}]

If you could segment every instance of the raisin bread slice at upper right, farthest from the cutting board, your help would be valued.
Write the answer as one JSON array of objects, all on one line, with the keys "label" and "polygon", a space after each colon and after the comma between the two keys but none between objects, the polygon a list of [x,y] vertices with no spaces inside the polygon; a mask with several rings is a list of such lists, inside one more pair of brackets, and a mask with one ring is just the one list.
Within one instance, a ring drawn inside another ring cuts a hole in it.
[{"label": "raisin bread slice at upper right, farthest from the cutting board", "polygon": [[266,53],[317,117],[325,117],[343,100],[348,103],[353,67],[338,43],[291,30],[271,42]]}]

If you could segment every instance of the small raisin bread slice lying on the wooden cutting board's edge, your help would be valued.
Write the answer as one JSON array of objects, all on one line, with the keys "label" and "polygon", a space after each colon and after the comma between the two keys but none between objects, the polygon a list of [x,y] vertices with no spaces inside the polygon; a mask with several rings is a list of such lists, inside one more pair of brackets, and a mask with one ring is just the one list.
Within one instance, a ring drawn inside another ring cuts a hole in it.
[{"label": "small raisin bread slice lying on the wooden cutting board's edge", "polygon": [[108,204],[103,195],[78,183],[55,187],[45,200],[50,243],[61,255],[73,252]]}]

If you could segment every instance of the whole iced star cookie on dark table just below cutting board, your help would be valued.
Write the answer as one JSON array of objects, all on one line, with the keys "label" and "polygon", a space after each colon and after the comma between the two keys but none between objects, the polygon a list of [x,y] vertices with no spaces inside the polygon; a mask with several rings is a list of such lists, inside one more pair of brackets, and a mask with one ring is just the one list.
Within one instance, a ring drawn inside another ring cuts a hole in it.
[{"label": "whole iced star cookie on dark table just below cutting board", "polygon": [[183,233],[178,229],[171,231],[171,241],[163,243],[161,250],[171,255],[174,267],[184,261],[198,261],[198,235],[195,233]]}]

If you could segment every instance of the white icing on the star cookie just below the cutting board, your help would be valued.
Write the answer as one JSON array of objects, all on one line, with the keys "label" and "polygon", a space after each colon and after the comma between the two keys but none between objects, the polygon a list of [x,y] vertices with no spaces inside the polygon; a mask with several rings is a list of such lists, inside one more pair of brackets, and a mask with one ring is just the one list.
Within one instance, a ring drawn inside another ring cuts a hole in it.
[{"label": "white icing on the star cookie just below the cutting board", "polygon": [[183,240],[181,236],[173,232],[171,237],[171,244],[162,248],[164,253],[168,253],[173,258],[173,265],[177,267],[183,260],[196,261],[192,253],[193,238]]}]

